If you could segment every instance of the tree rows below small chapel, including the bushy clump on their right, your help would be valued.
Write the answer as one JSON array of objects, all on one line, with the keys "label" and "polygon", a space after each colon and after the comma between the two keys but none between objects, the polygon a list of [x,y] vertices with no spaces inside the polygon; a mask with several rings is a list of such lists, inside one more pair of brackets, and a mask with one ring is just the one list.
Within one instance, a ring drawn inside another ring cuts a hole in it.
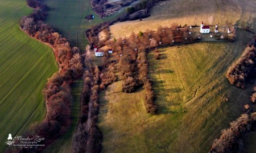
[{"label": "tree rows below small chapel, including the bushy clump on their right", "polygon": [[[105,57],[107,59],[107,57]],[[84,89],[81,94],[81,120],[80,125],[73,136],[73,152],[100,152],[102,134],[97,127],[98,93],[100,89],[117,81],[114,62],[105,60],[100,67],[90,63],[90,57],[86,57],[85,65],[88,70],[84,73]]]}]

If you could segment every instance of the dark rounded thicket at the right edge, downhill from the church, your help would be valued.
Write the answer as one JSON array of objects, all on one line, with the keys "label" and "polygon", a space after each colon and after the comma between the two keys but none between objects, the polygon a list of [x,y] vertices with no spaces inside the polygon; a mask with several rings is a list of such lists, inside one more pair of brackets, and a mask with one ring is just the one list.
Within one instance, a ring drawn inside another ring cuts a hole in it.
[{"label": "dark rounded thicket at the right edge, downhill from the church", "polygon": [[245,89],[246,78],[255,75],[256,72],[256,49],[248,46],[238,59],[226,73],[230,84],[236,85],[238,88]]}]

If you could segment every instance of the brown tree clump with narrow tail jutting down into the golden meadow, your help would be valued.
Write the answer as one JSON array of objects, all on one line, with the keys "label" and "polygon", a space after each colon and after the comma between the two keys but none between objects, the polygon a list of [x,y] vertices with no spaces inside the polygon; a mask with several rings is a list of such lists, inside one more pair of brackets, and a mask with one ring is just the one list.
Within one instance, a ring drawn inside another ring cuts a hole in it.
[{"label": "brown tree clump with narrow tail jutting down into the golden meadow", "polygon": [[119,60],[120,76],[123,79],[122,90],[126,93],[134,92],[143,85],[146,92],[145,106],[148,113],[155,114],[154,91],[152,81],[148,77],[148,60],[143,50],[127,50]]}]

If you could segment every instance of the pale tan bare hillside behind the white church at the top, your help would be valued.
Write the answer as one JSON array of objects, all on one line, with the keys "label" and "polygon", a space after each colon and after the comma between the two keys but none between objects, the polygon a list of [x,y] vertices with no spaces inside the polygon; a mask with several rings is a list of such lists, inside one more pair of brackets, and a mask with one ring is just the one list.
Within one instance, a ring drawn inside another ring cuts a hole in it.
[{"label": "pale tan bare hillside behind the white church at the top", "polygon": [[205,24],[218,24],[220,26],[253,26],[256,31],[256,1],[254,0],[181,0],[162,1],[150,10],[151,16],[140,20],[115,23],[110,27],[115,38],[128,36],[132,31],[138,33],[146,29],[156,29],[158,26],[170,27],[172,23],[184,26]]}]

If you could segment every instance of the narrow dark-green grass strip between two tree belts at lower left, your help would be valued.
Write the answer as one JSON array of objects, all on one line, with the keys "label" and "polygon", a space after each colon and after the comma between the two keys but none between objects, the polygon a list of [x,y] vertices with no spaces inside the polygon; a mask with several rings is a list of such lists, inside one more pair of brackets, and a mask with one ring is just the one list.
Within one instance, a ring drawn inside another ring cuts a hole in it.
[{"label": "narrow dark-green grass strip between two tree belts at lower left", "polygon": [[82,79],[73,82],[71,86],[72,94],[72,106],[71,106],[71,127],[68,131],[62,135],[60,138],[55,140],[50,144],[43,152],[60,152],[60,153],[69,153],[72,152],[72,136],[76,132],[77,125],[79,124],[80,119],[80,97],[82,93]]}]

